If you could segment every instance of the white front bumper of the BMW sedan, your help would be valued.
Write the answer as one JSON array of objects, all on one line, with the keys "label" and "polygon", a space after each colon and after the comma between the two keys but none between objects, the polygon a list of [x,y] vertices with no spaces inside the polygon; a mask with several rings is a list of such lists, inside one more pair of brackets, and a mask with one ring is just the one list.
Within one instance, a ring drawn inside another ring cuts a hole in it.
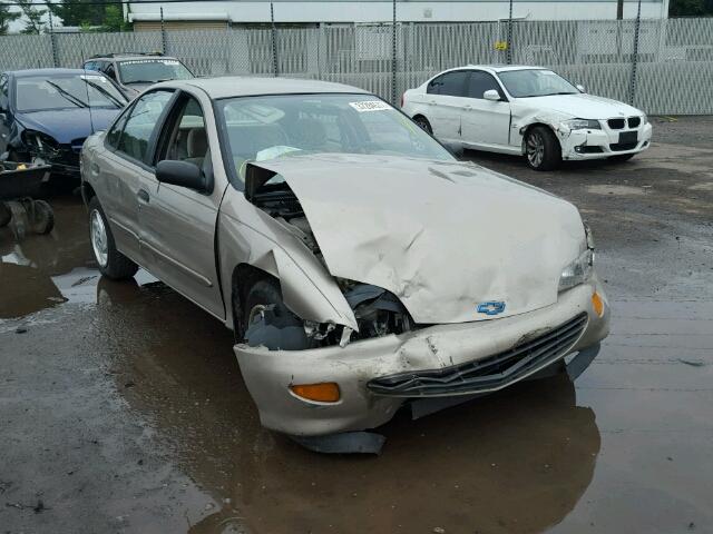
[{"label": "white front bumper of the BMW sedan", "polygon": [[[634,141],[621,141],[621,135],[636,134]],[[600,130],[570,130],[559,132],[563,159],[603,159],[646,150],[651,146],[652,126],[645,123],[636,129],[613,130],[604,125]]]}]

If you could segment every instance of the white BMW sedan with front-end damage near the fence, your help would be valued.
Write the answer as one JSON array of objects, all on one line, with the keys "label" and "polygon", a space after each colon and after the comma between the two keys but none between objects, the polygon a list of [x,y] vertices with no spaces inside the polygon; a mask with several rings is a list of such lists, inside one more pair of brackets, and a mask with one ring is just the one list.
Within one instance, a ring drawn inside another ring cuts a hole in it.
[{"label": "white BMW sedan with front-end damage near the fence", "polygon": [[623,161],[651,144],[646,113],[539,67],[447,70],[406,91],[401,108],[443,142],[524,155],[536,170],[563,159]]}]

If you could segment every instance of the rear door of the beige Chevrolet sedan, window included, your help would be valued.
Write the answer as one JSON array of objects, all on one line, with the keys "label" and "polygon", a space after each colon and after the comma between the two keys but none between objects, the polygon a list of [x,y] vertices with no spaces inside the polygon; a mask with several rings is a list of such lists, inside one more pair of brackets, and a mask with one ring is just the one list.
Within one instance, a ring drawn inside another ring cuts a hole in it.
[{"label": "rear door of the beige Chevrolet sedan, window included", "polygon": [[139,246],[140,184],[153,174],[149,155],[158,136],[156,125],[173,95],[173,90],[156,90],[138,99],[109,129],[107,150],[89,169],[92,182],[98,184],[95,189],[117,248],[140,265],[144,265]]}]

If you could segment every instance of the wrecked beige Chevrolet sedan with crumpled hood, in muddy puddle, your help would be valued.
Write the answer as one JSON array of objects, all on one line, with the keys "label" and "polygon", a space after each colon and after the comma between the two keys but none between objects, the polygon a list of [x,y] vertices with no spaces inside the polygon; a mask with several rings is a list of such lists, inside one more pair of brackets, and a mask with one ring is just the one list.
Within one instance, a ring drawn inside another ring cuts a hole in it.
[{"label": "wrecked beige Chevrolet sedan with crumpled hood, in muddy puddle", "polygon": [[81,154],[105,276],[138,266],[234,329],[263,425],[326,452],[545,373],[608,333],[577,209],[457,161],[353,87],[170,81]]}]

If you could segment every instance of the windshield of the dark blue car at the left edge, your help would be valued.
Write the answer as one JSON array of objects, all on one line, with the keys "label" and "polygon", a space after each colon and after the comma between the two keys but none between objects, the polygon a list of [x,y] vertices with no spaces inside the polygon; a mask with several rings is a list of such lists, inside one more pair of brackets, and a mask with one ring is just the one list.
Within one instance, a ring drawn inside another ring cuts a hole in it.
[{"label": "windshield of the dark blue car at the left edge", "polygon": [[94,73],[18,78],[16,95],[18,111],[126,106],[119,90],[106,77]]}]

